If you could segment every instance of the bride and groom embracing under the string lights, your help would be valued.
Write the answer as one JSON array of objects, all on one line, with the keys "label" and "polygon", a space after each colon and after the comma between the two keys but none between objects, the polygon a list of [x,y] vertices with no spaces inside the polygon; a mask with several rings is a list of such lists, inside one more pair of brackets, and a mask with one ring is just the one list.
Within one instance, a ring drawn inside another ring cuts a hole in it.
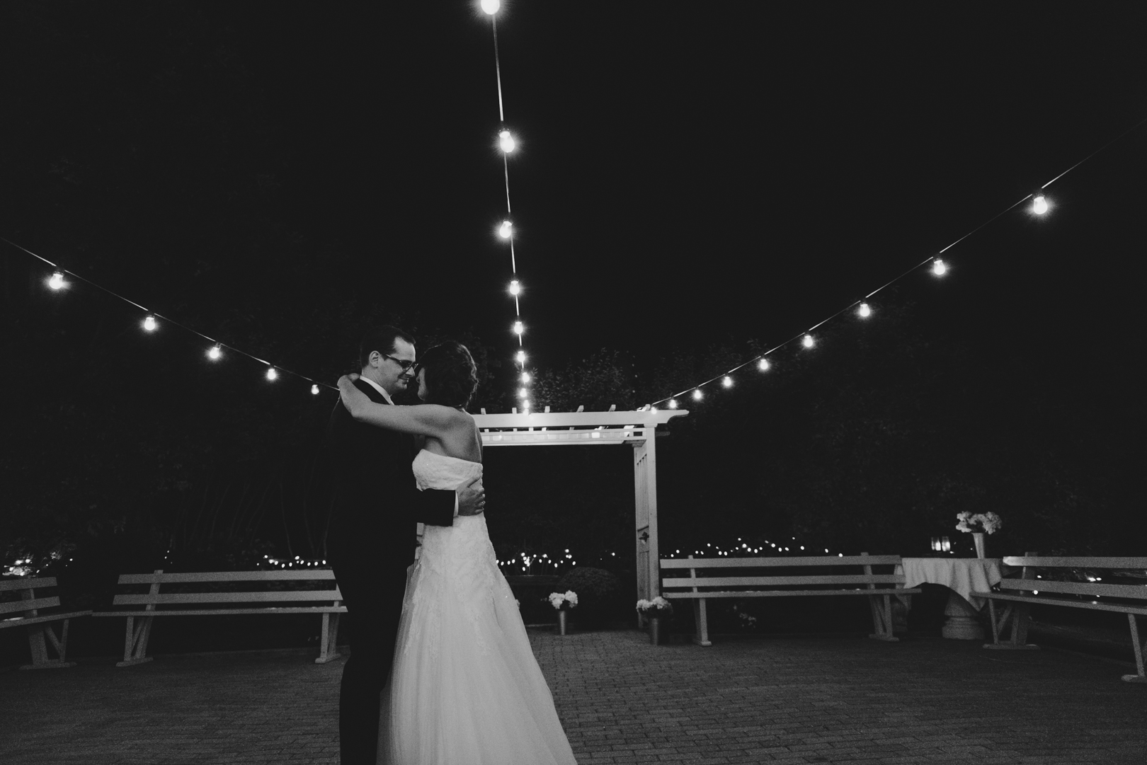
[{"label": "bride and groom embracing under the string lights", "polygon": [[[341,762],[575,763],[486,532],[474,359],[453,342],[420,359],[413,337],[380,327],[359,366],[328,430],[329,559],[352,631]],[[423,405],[393,405],[408,385]]]}]

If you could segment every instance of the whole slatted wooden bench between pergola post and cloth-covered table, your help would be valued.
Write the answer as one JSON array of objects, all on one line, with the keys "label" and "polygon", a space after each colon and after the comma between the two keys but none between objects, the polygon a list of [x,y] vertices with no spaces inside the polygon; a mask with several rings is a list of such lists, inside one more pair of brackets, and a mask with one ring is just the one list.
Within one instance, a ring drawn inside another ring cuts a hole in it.
[{"label": "whole slatted wooden bench between pergola post and cloth-covered table", "polygon": [[[904,575],[892,571],[900,563],[899,555],[799,556],[799,557],[699,557],[661,559],[662,571],[684,570],[686,576],[665,577],[661,580],[662,595],[693,601],[693,615],[699,646],[711,646],[705,603],[712,598],[797,598],[805,595],[861,595],[872,608],[875,632],[871,638],[895,641],[892,634],[892,604],[896,595],[916,594],[919,590],[904,588]],[[873,573],[872,567],[889,568],[889,573]],[[775,572],[778,576],[719,576],[728,569],[754,569],[755,573]],[[846,572],[852,569],[855,572]],[[697,576],[699,571],[715,571],[718,576]],[[817,571],[816,573],[813,571]],[[838,571],[838,572],[837,572]]]}]

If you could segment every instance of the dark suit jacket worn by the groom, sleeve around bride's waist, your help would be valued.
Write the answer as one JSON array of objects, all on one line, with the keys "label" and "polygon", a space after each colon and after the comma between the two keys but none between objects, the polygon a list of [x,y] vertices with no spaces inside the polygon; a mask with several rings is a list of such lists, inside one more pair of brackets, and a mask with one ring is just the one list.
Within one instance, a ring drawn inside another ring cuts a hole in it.
[{"label": "dark suit jacket worn by the groom, sleeve around bride's waist", "polygon": [[[354,387],[387,405],[369,383],[356,380]],[[328,537],[334,561],[405,568],[414,561],[418,522],[453,525],[454,492],[420,492],[414,483],[409,434],[356,422],[340,399],[330,414],[327,446],[337,492]]]}]

